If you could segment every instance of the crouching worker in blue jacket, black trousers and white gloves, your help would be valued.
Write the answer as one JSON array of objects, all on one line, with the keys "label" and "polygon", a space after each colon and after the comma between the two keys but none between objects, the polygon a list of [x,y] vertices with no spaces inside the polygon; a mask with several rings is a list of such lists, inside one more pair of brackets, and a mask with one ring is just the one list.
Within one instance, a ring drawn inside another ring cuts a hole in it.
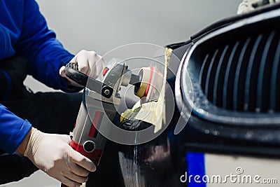
[{"label": "crouching worker in blue jacket, black trousers and white gloves", "polygon": [[65,64],[77,62],[80,71],[97,76],[101,58],[93,51],[74,56],[65,50],[34,0],[0,1],[0,183],[36,169],[67,186],[87,181],[94,163],[73,151],[70,137],[62,135],[73,130],[81,94],[34,94],[23,81],[29,74],[51,88],[78,92],[65,78]]}]

